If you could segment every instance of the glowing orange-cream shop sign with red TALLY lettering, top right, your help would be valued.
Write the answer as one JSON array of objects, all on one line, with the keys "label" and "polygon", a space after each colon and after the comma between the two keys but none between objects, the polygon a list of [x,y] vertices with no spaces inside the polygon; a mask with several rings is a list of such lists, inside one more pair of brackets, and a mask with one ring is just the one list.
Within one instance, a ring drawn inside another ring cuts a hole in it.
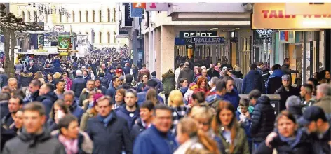
[{"label": "glowing orange-cream shop sign with red TALLY lettering, top right", "polygon": [[330,14],[304,15],[285,13],[286,3],[255,3],[251,18],[252,29],[330,29]]}]

